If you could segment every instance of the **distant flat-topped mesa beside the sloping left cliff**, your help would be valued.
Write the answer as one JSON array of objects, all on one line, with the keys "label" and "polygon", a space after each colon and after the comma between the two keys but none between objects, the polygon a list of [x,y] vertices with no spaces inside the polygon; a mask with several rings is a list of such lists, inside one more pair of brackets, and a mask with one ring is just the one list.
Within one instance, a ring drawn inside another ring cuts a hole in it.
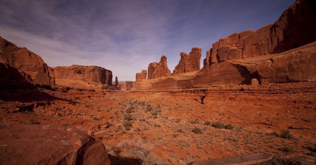
[{"label": "distant flat-topped mesa beside the sloping left cliff", "polygon": [[63,83],[67,79],[112,85],[112,71],[100,66],[57,66],[52,68],[52,74],[56,79],[57,85],[68,85]]}]

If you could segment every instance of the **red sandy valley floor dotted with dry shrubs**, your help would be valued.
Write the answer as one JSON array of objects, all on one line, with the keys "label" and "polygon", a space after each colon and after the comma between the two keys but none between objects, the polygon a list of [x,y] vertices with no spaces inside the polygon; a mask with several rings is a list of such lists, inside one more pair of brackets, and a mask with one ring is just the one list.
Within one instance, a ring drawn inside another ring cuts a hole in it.
[{"label": "red sandy valley floor dotted with dry shrubs", "polygon": [[113,164],[250,153],[315,159],[316,83],[188,90],[52,91],[2,87],[1,127],[61,124],[99,137]]}]

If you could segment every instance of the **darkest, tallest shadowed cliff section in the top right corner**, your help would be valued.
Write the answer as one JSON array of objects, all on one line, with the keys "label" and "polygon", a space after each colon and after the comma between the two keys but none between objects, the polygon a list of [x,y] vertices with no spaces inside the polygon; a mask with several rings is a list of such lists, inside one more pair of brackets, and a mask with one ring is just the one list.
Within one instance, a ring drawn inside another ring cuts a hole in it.
[{"label": "darkest, tallest shadowed cliff section in the top right corner", "polygon": [[270,28],[269,52],[282,52],[316,40],[316,5],[296,0]]}]

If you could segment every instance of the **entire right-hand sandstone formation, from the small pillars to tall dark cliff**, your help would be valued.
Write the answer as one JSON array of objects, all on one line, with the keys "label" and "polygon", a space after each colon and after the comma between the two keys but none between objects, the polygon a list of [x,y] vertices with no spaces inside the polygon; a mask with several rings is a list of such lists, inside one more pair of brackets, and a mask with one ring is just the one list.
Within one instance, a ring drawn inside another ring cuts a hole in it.
[{"label": "entire right-hand sandstone formation, from the small pillars to tall dark cliff", "polygon": [[254,79],[259,84],[315,81],[316,15],[311,6],[297,0],[273,24],[220,38],[207,50],[201,70],[198,47],[181,52],[171,75],[158,69],[161,62],[152,62],[147,79],[145,70],[136,74],[136,89],[251,84]]}]

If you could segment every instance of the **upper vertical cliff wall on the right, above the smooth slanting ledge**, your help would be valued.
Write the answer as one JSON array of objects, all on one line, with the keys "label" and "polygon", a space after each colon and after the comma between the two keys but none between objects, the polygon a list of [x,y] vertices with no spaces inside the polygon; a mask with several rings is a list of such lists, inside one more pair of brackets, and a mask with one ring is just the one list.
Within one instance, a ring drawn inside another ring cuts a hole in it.
[{"label": "upper vertical cliff wall on the right, above the smooth slanting ledge", "polygon": [[273,23],[220,38],[207,52],[204,66],[290,50],[316,40],[316,6],[297,0]]}]

